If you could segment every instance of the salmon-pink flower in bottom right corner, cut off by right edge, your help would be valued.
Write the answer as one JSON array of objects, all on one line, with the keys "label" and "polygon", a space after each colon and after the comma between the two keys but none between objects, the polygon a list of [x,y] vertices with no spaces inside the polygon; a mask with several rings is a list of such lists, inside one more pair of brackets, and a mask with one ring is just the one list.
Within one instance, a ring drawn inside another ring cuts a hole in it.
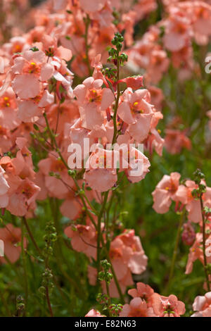
[{"label": "salmon-pink flower in bottom right corner, cut off by right edge", "polygon": [[193,313],[191,317],[211,317],[211,292],[207,292],[205,296],[196,296],[193,302]]}]

